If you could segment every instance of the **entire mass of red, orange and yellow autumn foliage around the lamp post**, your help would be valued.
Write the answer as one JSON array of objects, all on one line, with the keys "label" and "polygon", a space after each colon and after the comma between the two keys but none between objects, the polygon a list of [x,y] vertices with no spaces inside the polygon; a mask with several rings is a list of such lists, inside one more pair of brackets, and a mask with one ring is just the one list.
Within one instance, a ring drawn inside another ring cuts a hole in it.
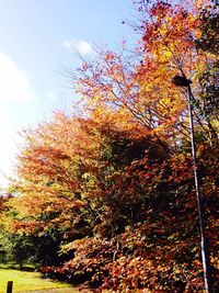
[{"label": "entire mass of red, orange and yellow autumn foliage around the lamp post", "polygon": [[102,49],[72,75],[83,115],[57,113],[24,131],[26,145],[10,187],[16,196],[1,216],[4,233],[9,243],[23,241],[20,249],[31,246],[45,275],[100,291],[201,292],[187,92],[172,79],[193,81],[217,288],[219,148],[217,104],[210,109],[209,100],[218,91],[218,16],[204,1],[135,4],[137,47]]}]

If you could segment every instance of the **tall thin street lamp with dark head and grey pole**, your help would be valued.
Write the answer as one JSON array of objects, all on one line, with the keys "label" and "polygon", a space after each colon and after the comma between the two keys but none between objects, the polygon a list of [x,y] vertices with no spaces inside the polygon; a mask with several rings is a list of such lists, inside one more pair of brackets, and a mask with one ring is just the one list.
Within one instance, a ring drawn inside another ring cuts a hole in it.
[{"label": "tall thin street lamp with dark head and grey pole", "polygon": [[191,146],[193,155],[193,169],[194,169],[194,179],[195,179],[195,191],[198,206],[198,222],[200,230],[200,249],[201,249],[201,260],[203,260],[203,271],[205,280],[205,289],[207,293],[211,293],[211,277],[210,277],[210,260],[208,255],[208,247],[205,236],[205,225],[204,225],[204,207],[203,200],[200,195],[199,180],[198,180],[198,168],[197,168],[197,158],[196,158],[196,145],[194,136],[194,117],[193,117],[193,99],[192,99],[192,81],[184,76],[175,76],[173,78],[173,83],[177,87],[187,88],[188,95],[188,112],[189,112],[189,127],[191,127]]}]

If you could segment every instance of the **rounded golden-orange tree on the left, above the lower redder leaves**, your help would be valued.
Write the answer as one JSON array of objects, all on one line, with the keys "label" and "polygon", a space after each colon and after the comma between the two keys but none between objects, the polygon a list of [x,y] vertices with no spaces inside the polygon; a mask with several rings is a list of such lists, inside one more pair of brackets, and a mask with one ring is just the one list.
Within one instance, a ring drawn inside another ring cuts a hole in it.
[{"label": "rounded golden-orange tree on the left, above the lower redder leaves", "polygon": [[140,125],[122,128],[115,113],[105,113],[92,120],[57,114],[51,123],[25,132],[19,180],[11,187],[20,195],[12,202],[14,229],[31,233],[51,227],[69,235],[92,235],[103,228],[107,215],[107,234],[135,221],[134,210],[140,209],[143,198],[140,182],[136,192],[135,170],[127,168],[147,149],[151,164],[166,155],[150,136],[139,136]]}]

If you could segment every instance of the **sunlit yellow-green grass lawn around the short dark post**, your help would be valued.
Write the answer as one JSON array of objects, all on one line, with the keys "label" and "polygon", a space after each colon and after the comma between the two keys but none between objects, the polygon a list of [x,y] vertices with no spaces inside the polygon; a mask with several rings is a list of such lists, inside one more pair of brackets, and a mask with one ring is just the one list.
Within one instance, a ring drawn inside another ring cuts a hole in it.
[{"label": "sunlit yellow-green grass lawn around the short dark post", "polygon": [[[7,282],[13,281],[13,293],[34,290],[67,288],[67,283],[42,279],[38,272],[0,268],[0,292],[7,292]],[[72,293],[79,292],[72,288]]]}]

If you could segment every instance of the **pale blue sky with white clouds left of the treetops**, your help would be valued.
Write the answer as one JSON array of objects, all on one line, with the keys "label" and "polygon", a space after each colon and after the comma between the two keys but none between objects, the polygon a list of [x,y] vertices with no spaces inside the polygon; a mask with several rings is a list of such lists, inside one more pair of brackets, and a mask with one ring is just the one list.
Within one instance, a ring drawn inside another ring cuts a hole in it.
[{"label": "pale blue sky with white clouds left of the treetops", "polygon": [[[64,66],[76,68],[94,44],[116,48],[131,29],[131,0],[0,0],[0,171],[10,176],[18,132],[69,111],[77,99]],[[0,187],[7,184],[0,173]]]}]

